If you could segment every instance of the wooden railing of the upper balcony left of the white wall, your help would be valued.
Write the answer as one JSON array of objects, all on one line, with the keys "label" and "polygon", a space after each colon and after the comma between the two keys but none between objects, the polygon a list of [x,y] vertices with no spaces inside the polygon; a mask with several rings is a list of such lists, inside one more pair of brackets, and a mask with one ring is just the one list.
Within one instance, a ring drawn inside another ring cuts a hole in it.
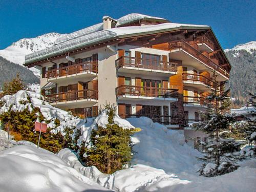
[{"label": "wooden railing of the upper balcony left of the white wall", "polygon": [[67,75],[79,74],[83,72],[98,73],[98,64],[90,62],[82,62],[72,66],[52,69],[46,72],[46,78],[62,77]]}]

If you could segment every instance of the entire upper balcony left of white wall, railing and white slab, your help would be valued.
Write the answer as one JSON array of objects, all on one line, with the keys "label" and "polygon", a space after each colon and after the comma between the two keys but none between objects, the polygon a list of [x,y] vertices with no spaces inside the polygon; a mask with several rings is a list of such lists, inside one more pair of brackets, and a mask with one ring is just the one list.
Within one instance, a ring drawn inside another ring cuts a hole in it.
[{"label": "entire upper balcony left of white wall, railing and white slab", "polygon": [[46,72],[46,78],[54,83],[69,82],[72,84],[78,81],[90,81],[97,76],[97,73],[98,64],[90,61],[49,70]]}]

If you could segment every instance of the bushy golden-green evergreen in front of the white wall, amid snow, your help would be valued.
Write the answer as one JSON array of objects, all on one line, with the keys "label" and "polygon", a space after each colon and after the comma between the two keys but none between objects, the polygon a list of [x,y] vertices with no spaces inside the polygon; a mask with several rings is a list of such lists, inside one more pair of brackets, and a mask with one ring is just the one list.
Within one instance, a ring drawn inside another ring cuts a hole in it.
[{"label": "bushy golden-green evergreen in front of the white wall, amid snow", "polygon": [[87,166],[95,165],[101,172],[111,174],[131,161],[133,132],[114,123],[115,106],[107,104],[104,110],[109,123],[92,130],[90,143],[81,144],[79,155]]}]

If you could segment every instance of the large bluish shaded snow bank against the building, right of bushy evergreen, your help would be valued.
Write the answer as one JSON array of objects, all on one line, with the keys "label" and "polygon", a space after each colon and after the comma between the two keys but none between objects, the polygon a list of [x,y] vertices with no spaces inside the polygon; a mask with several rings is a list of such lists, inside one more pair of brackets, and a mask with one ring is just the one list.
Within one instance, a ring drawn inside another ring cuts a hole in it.
[{"label": "large bluish shaded snow bank against the building, right of bushy evergreen", "polygon": [[135,153],[133,164],[146,164],[164,169],[167,173],[181,173],[198,163],[196,157],[201,154],[185,144],[185,137],[164,125],[154,123],[150,118],[127,118],[132,125],[140,127],[133,141]]}]

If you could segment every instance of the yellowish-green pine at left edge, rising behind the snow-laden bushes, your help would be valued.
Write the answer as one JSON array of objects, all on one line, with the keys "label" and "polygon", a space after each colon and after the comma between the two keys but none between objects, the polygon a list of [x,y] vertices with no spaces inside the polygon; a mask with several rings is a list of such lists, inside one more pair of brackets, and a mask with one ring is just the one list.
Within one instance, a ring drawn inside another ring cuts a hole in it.
[{"label": "yellowish-green pine at left edge, rising behind the snow-laden bushes", "polygon": [[3,92],[0,93],[0,98],[5,95],[13,95],[19,90],[25,90],[25,84],[22,79],[19,78],[19,74],[16,74],[16,78],[12,79],[11,82],[5,82]]}]

